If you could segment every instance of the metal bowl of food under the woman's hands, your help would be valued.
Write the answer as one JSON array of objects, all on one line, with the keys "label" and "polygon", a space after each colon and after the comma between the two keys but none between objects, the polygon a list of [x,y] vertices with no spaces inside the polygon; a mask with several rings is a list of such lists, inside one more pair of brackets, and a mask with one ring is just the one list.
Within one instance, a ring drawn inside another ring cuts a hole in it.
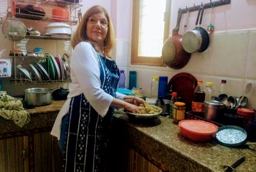
[{"label": "metal bowl of food under the woman's hands", "polygon": [[130,111],[126,111],[127,115],[132,118],[156,118],[163,112],[163,110],[157,106],[152,104],[140,104],[142,110],[137,113],[131,113]]}]

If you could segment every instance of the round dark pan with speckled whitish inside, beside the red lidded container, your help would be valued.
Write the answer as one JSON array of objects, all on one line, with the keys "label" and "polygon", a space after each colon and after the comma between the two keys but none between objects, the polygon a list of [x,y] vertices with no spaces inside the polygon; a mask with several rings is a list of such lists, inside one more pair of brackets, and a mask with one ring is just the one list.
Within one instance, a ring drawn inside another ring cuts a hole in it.
[{"label": "round dark pan with speckled whitish inside, beside the red lidded container", "polygon": [[217,133],[214,135],[214,138],[226,147],[239,147],[241,145],[256,145],[256,143],[246,143],[247,133],[236,125],[224,125],[220,127]]}]

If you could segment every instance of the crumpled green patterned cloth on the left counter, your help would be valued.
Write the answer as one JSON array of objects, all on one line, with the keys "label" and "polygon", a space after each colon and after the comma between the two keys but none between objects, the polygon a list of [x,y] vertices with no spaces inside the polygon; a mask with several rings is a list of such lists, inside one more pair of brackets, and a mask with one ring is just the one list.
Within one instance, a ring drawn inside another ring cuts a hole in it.
[{"label": "crumpled green patterned cloth on the left counter", "polygon": [[30,115],[28,111],[24,110],[22,102],[10,96],[1,99],[0,116],[7,120],[13,120],[19,127],[24,127],[30,121]]}]

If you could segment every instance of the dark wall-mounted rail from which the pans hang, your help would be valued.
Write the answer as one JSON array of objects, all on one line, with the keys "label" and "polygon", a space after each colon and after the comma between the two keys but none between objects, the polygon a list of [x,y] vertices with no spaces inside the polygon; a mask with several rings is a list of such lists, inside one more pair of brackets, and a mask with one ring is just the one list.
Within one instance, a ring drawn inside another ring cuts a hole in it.
[{"label": "dark wall-mounted rail from which the pans hang", "polygon": [[216,6],[222,6],[230,3],[231,3],[231,0],[210,1],[210,3],[206,3],[206,4],[201,3],[200,5],[196,5],[196,6],[195,4],[194,6],[191,6],[191,7],[186,6],[186,8],[181,9],[181,11],[182,13],[186,13],[188,10],[189,12],[198,11],[200,6],[202,5],[204,6],[204,9],[207,9],[207,8],[212,8],[212,6],[216,7]]}]

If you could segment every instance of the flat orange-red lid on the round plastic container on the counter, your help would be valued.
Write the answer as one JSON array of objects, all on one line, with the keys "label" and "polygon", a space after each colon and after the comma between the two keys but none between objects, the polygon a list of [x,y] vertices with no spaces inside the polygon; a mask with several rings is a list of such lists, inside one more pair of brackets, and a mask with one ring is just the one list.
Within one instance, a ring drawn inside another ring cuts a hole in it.
[{"label": "flat orange-red lid on the round plastic container on the counter", "polygon": [[218,130],[218,126],[204,120],[182,120],[179,122],[179,126],[191,133],[201,135],[214,134]]}]

